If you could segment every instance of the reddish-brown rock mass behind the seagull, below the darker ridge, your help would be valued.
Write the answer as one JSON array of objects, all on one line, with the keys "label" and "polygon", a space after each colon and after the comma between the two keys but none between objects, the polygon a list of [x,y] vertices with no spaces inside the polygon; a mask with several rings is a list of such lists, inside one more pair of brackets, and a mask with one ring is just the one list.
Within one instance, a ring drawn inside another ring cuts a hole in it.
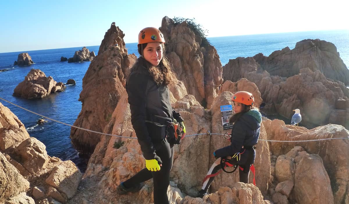
[{"label": "reddish-brown rock mass behind the seagull, below the darker ridge", "polygon": [[225,79],[233,82],[246,78],[254,82],[267,104],[263,111],[279,113],[291,119],[295,108],[302,114],[302,124],[328,123],[349,128],[349,88],[338,80],[326,78],[319,70],[299,70],[291,77],[270,76],[252,57],[230,59],[223,68]]}]

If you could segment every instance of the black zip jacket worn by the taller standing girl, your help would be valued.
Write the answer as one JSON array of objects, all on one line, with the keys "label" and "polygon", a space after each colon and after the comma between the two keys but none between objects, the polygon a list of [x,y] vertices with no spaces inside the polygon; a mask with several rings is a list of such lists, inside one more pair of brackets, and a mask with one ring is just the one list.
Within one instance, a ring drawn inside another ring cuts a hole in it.
[{"label": "black zip jacket worn by the taller standing girl", "polygon": [[149,75],[148,69],[138,61],[131,70],[126,84],[128,103],[131,109],[131,123],[146,160],[154,159],[155,150],[166,136],[166,127],[146,122],[152,115],[183,121],[173,110],[170,92],[165,85],[158,86]]}]

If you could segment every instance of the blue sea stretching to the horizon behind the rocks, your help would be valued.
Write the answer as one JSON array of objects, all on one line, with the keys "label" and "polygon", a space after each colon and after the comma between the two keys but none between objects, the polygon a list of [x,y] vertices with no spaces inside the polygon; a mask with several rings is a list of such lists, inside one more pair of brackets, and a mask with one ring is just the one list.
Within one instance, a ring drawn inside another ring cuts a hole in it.
[{"label": "blue sea stretching to the horizon behind the rocks", "polygon": [[[217,49],[222,65],[225,65],[229,59],[252,57],[260,52],[269,56],[273,51],[281,50],[284,47],[293,49],[298,41],[316,38],[334,43],[344,64],[349,66],[349,30],[211,37],[208,40]],[[0,97],[46,117],[73,125],[81,111],[81,102],[78,99],[82,90],[82,78],[90,62],[67,63],[60,62],[60,58],[62,56],[73,57],[75,51],[81,50],[81,48],[0,53]],[[87,48],[97,54],[99,45],[87,46]],[[126,48],[129,54],[135,53],[138,56],[137,43],[126,43]],[[22,52],[28,52],[35,64],[14,66],[14,61]],[[46,76],[52,76],[57,82],[66,83],[68,79],[74,79],[76,85],[68,85],[64,92],[54,93],[42,99],[23,99],[12,96],[15,87],[24,80],[32,68],[42,70]],[[45,144],[46,151],[50,156],[56,156],[62,160],[72,160],[82,172],[85,170],[87,159],[80,157],[79,153],[72,147],[69,126],[51,120],[38,125],[37,120],[41,118],[40,116],[24,111],[3,100],[0,100],[0,103],[17,115],[30,136]]]}]

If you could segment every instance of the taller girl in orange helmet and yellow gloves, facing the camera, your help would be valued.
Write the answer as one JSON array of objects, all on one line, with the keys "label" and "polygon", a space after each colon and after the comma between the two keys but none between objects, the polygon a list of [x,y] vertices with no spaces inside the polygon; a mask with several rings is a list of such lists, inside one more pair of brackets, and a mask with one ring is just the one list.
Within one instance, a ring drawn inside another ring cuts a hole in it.
[{"label": "taller girl in orange helmet and yellow gloves, facing the camera", "polygon": [[174,119],[180,131],[185,132],[183,119],[173,110],[168,85],[173,82],[172,72],[164,54],[165,39],[157,28],[147,27],[138,35],[141,55],[127,79],[126,91],[131,110],[131,122],[146,160],[146,168],[121,182],[118,194],[136,192],[141,183],[153,178],[154,203],[169,203],[167,188],[173,164],[173,138],[169,125]]}]

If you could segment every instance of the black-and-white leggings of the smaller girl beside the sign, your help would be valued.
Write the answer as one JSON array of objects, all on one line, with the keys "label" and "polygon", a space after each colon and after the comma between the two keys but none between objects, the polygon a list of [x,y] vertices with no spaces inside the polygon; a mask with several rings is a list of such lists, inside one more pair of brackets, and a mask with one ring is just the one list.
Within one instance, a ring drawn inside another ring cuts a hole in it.
[{"label": "black-and-white leggings of the smaller girl beside the sign", "polygon": [[[221,160],[221,158],[219,158],[218,160]],[[235,165],[237,163],[237,161],[235,159],[231,159],[229,161],[229,163]],[[247,164],[247,165],[246,164],[245,165],[240,165],[239,164],[239,166],[244,169],[244,170],[241,170],[240,167],[238,167],[239,168],[240,182],[248,183],[248,175],[250,175],[250,166],[251,166],[251,164]],[[216,174],[221,169],[222,169],[221,164],[216,164],[216,163],[212,164],[211,168],[207,172],[207,176],[208,175],[212,175],[212,176],[209,177],[206,181],[203,182],[202,188],[201,188],[202,190],[207,192],[208,188],[210,187],[211,183],[213,182],[213,180],[214,180],[214,178],[216,176],[216,175],[213,175],[213,174]]]}]

